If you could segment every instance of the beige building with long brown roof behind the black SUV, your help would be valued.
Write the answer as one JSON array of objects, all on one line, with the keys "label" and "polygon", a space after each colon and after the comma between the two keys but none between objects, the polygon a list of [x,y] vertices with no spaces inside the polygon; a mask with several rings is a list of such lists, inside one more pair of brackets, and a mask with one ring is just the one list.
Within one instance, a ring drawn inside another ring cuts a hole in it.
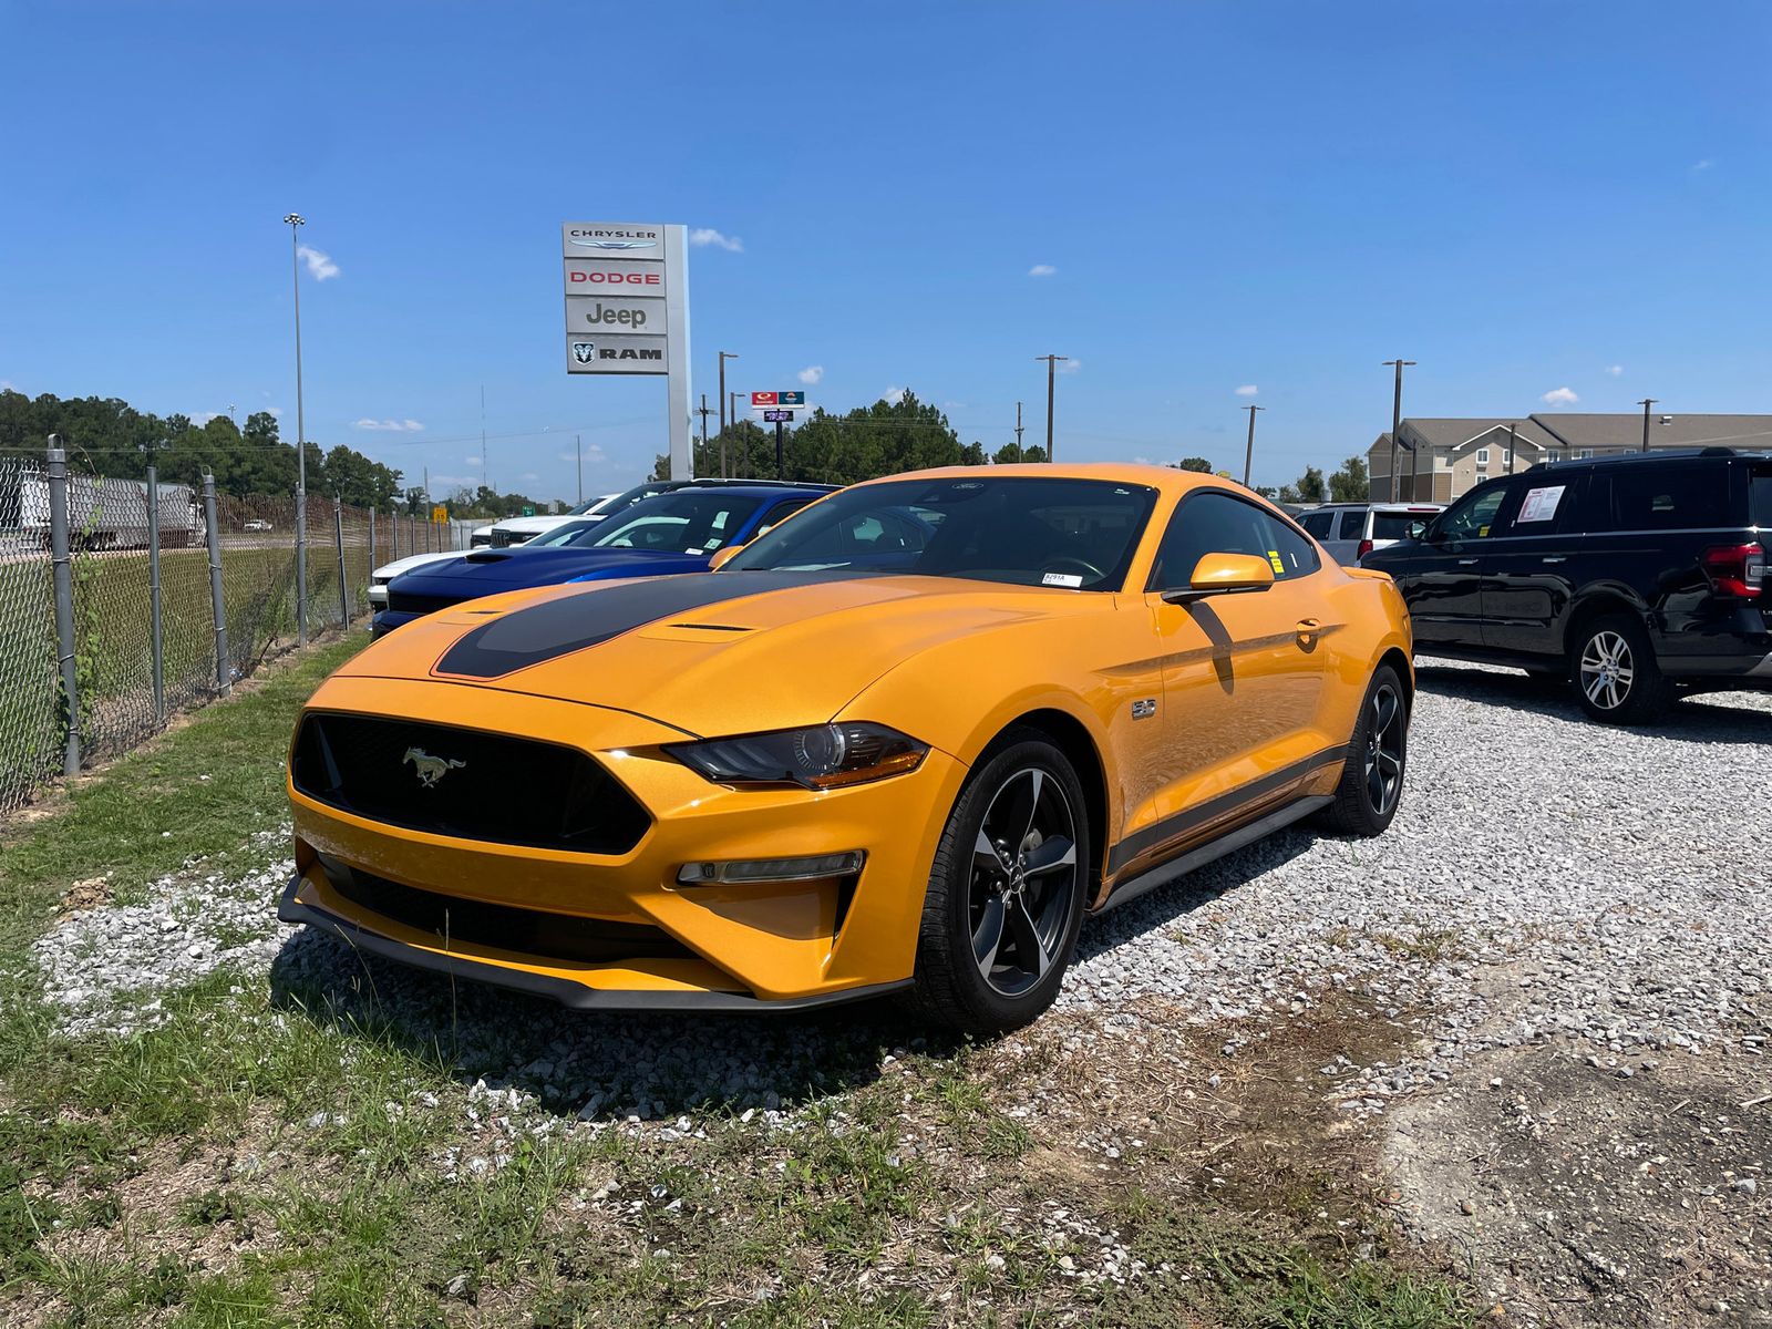
[{"label": "beige building with long brown roof behind the black SUV", "polygon": [[[1396,454],[1391,489],[1391,436],[1379,434],[1366,455],[1375,500],[1449,503],[1497,475],[1524,471],[1540,461],[1574,461],[1643,448],[1641,415],[1572,415],[1545,411],[1512,420],[1409,418]],[[1652,415],[1652,448],[1772,450],[1772,415]]]}]

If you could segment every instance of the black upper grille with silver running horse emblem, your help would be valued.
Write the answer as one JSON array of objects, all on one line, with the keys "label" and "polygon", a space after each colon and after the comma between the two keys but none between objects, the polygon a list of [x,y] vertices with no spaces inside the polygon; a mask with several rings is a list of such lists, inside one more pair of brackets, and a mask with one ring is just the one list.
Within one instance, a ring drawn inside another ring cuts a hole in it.
[{"label": "black upper grille with silver running horse emblem", "polygon": [[652,824],[574,748],[411,719],[310,714],[291,778],[342,812],[457,840],[626,854]]}]

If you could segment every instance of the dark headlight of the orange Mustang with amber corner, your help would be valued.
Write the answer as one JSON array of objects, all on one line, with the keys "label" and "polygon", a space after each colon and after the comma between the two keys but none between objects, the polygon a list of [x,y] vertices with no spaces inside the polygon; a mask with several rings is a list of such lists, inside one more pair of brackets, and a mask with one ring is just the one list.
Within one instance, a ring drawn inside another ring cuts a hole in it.
[{"label": "dark headlight of the orange Mustang with amber corner", "polygon": [[673,742],[664,748],[716,785],[838,789],[914,771],[929,744],[886,725],[845,719],[732,739]]}]

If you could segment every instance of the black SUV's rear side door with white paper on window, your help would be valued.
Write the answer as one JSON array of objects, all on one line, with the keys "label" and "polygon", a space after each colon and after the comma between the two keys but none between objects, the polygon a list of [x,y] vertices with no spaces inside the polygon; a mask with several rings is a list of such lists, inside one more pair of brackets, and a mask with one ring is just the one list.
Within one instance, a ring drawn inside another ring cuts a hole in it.
[{"label": "black SUV's rear side door with white paper on window", "polygon": [[1508,489],[1483,549],[1483,645],[1559,656],[1586,530],[1588,471],[1527,473]]}]

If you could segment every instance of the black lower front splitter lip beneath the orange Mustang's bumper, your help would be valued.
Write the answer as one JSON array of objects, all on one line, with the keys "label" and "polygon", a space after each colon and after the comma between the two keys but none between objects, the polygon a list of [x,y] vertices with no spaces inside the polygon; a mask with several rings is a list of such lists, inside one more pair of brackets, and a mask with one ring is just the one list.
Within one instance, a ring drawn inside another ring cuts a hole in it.
[{"label": "black lower front splitter lip beneath the orange Mustang's bumper", "polygon": [[501,964],[487,964],[466,955],[438,955],[436,952],[424,950],[422,946],[408,946],[393,937],[372,932],[361,923],[344,918],[342,914],[335,914],[330,909],[303,904],[296,898],[298,890],[301,890],[301,874],[289,879],[289,886],[284,888],[284,900],[276,909],[276,916],[285,923],[307,923],[308,927],[317,927],[323,932],[331,932],[349,946],[367,950],[369,953],[381,955],[383,959],[409,964],[416,969],[434,969],[438,973],[455,975],[457,978],[471,978],[493,987],[509,987],[517,992],[528,992],[530,996],[548,998],[549,1001],[558,1001],[562,1006],[571,1010],[810,1010],[813,1006],[835,1006],[845,1001],[865,1001],[868,998],[884,996],[886,992],[895,992],[900,987],[911,985],[909,978],[902,978],[893,983],[845,987],[842,992],[820,992],[806,998],[781,998],[780,1001],[750,996],[748,992],[601,991],[585,987],[583,983],[574,983],[567,978],[549,978],[546,975],[523,973],[521,969],[507,969]]}]

